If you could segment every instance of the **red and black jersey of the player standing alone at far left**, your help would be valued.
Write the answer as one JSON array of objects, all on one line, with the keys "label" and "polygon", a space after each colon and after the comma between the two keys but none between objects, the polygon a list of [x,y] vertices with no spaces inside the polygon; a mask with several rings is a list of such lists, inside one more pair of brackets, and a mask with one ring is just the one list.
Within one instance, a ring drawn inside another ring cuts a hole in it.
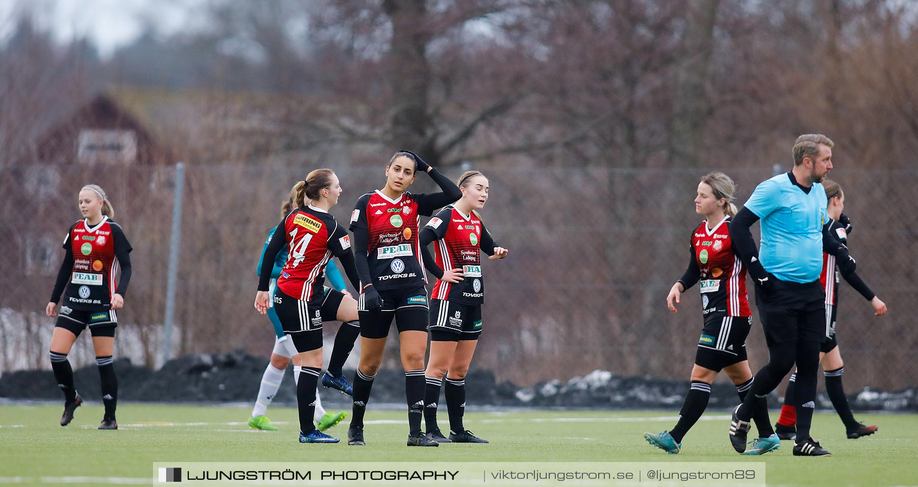
[{"label": "red and black jersey of the player standing alone at far left", "polygon": [[[114,293],[124,295],[128,282],[118,283],[116,277],[120,261],[127,260],[131,247],[121,226],[108,216],[92,227],[85,219],[74,223],[64,238],[63,249],[67,250],[67,257],[51,293],[52,303],[57,303],[64,286],[62,305],[73,309],[108,308]],[[71,269],[65,270],[68,262]],[[126,267],[129,266],[128,261]]]}]

